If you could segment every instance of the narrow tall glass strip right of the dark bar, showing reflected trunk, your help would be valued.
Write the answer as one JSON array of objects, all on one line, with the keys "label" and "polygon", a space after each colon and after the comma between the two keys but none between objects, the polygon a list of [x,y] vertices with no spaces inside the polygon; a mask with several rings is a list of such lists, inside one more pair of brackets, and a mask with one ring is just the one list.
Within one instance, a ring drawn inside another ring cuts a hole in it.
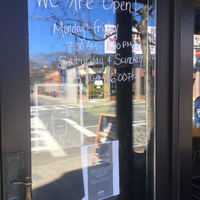
[{"label": "narrow tall glass strip right of the dark bar, showing reflected trunk", "polygon": [[[139,24],[135,25],[133,34],[133,52],[137,58],[133,66],[135,74],[134,100],[133,100],[133,152],[134,152],[134,198],[154,199],[154,161],[155,161],[155,72],[156,72],[156,18],[155,1],[152,4],[136,4],[134,19]],[[140,16],[138,18],[138,12]],[[145,17],[147,12],[147,18]],[[144,37],[142,30],[145,30]],[[137,32],[137,33],[138,33]],[[145,191],[145,192],[144,192]]]}]

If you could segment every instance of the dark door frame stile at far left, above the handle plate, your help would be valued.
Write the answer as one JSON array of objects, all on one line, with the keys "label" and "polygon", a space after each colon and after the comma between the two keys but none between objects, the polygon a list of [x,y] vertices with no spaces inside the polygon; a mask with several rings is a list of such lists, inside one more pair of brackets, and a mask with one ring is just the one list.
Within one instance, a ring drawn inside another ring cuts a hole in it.
[{"label": "dark door frame stile at far left, above the handle plate", "polygon": [[[1,187],[3,158],[24,153],[24,177],[31,177],[27,0],[3,0],[0,6]],[[23,187],[23,186],[22,186]]]}]

